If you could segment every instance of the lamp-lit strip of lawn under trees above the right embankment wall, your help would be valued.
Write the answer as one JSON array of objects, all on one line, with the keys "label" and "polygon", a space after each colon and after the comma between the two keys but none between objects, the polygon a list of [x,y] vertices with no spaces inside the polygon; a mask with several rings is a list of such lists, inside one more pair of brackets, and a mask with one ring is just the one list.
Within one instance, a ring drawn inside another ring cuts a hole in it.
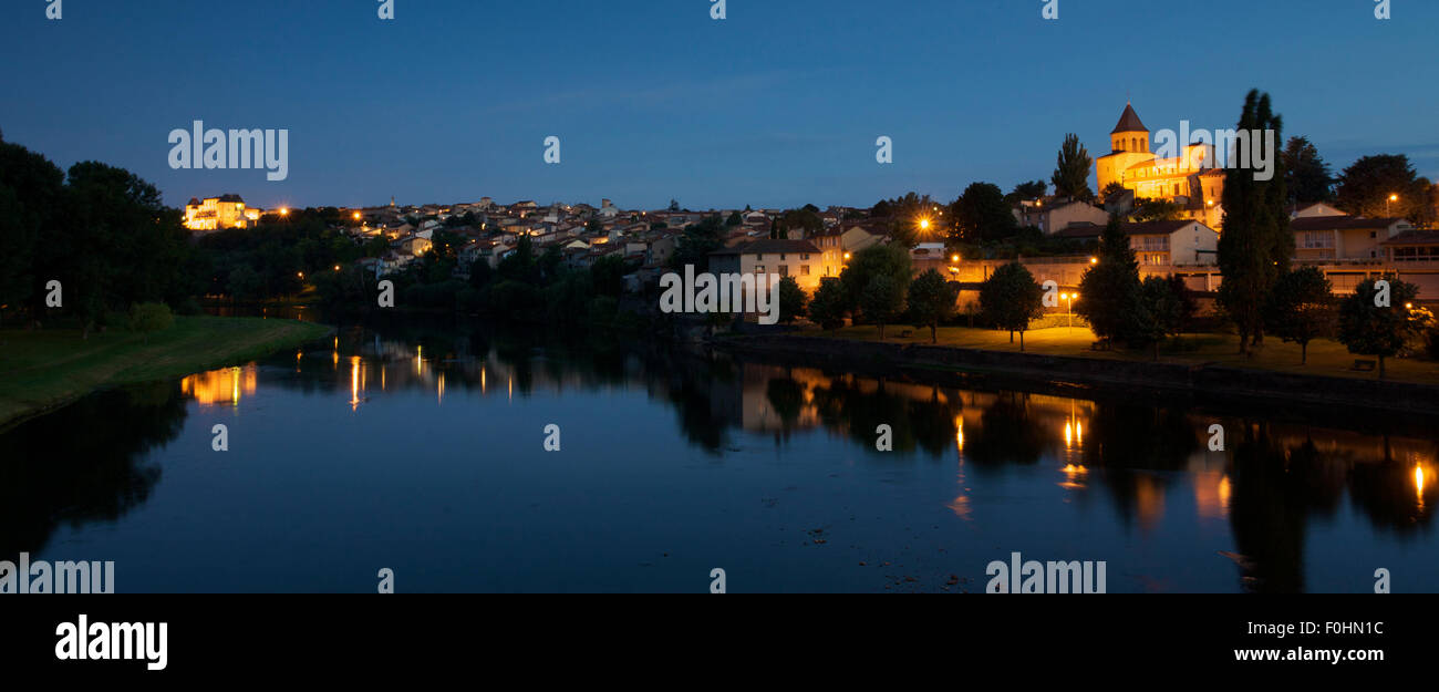
[{"label": "lamp-lit strip of lawn under trees above the right embankment wall", "polygon": [[[899,337],[905,329],[912,329],[909,337]],[[832,332],[819,328],[806,328],[803,335],[829,337],[845,340],[876,341],[875,327],[845,327]],[[977,329],[968,327],[941,327],[938,332],[940,345],[961,348],[984,348],[993,351],[1019,351],[1019,335],[1014,344],[1009,342],[1009,332],[993,329]],[[1048,329],[1032,329],[1025,334],[1025,351],[1045,355],[1072,355],[1081,358],[1111,358],[1111,360],[1153,360],[1151,351],[1095,351],[1091,345],[1095,341],[1094,332],[1085,327],[1055,327]],[[930,329],[915,329],[909,325],[891,325],[885,328],[886,344],[928,344]],[[1337,341],[1322,340],[1309,342],[1309,363],[1299,364],[1298,344],[1285,344],[1278,338],[1265,338],[1263,348],[1252,358],[1239,355],[1238,337],[1232,334],[1186,334],[1177,342],[1171,341],[1160,348],[1161,363],[1183,364],[1215,364],[1236,368],[1271,370],[1281,373],[1328,375],[1328,377],[1360,377],[1377,378],[1376,373],[1360,373],[1353,370],[1354,360],[1374,360],[1367,355],[1354,355]],[[1393,381],[1410,381],[1439,386],[1439,363],[1416,358],[1389,358],[1384,361],[1386,378]]]}]

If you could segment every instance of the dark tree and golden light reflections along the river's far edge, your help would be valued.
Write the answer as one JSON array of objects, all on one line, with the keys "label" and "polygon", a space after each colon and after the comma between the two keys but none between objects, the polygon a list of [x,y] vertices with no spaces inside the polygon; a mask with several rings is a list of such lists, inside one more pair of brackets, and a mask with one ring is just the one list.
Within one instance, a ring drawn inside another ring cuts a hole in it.
[{"label": "dark tree and golden light reflections along the river's far edge", "polygon": [[[332,406],[350,420],[370,404],[416,393],[423,403],[404,399],[404,414],[416,420],[452,407],[473,410],[479,420],[488,401],[528,399],[576,397],[587,406],[625,406],[632,416],[659,403],[673,417],[671,432],[711,460],[753,453],[745,443],[764,440],[780,457],[814,457],[823,449],[837,455],[836,465],[845,459],[902,470],[920,463],[944,473],[930,506],[976,531],[1003,532],[1010,529],[1003,522],[1020,522],[1043,532],[1075,521],[1082,508],[1104,508],[1114,527],[1089,529],[1095,550],[1125,551],[1135,540],[1181,535],[1190,541],[1183,557],[1166,560],[1184,565],[1153,571],[1227,565],[1227,558],[1229,587],[1250,591],[1309,588],[1311,534],[1331,535],[1334,525],[1380,547],[1435,541],[1432,422],[1354,411],[1281,414],[1249,404],[958,377],[881,377],[450,325],[345,328],[295,354],[199,373],[178,387],[91,397],[0,436],[0,555],[43,547],[58,524],[112,521],[142,504],[160,479],[148,452],[177,434],[186,399],[199,407],[229,406],[243,419],[268,396],[302,394],[307,406]],[[637,397],[599,399],[613,393]],[[1226,430],[1223,452],[1207,446],[1215,423]],[[892,452],[875,449],[881,424],[892,430]],[[76,426],[98,426],[98,434],[69,433]],[[340,423],[317,434],[348,433]],[[620,433],[633,437],[633,455],[650,453],[642,436]],[[52,440],[63,442],[56,447]],[[875,502],[876,515],[892,509],[878,495],[863,501]],[[1017,519],[1016,506],[1025,512]],[[1004,519],[997,518],[1002,511],[1009,511]],[[1191,535],[1210,525],[1219,527],[1219,540]]]}]

